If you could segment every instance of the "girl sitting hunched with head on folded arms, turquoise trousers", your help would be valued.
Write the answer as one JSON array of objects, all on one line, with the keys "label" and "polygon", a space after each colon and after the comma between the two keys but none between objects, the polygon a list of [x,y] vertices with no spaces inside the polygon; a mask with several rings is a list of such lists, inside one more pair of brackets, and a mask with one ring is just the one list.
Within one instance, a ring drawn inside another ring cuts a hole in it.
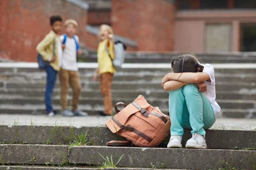
[{"label": "girl sitting hunched with head on folded arms, turquoise trousers", "polygon": [[162,87],[169,91],[171,137],[168,148],[182,148],[183,128],[192,129],[186,148],[206,149],[205,129],[220,116],[215,101],[214,68],[201,65],[195,56],[182,55],[171,62],[173,73],[162,79]]}]

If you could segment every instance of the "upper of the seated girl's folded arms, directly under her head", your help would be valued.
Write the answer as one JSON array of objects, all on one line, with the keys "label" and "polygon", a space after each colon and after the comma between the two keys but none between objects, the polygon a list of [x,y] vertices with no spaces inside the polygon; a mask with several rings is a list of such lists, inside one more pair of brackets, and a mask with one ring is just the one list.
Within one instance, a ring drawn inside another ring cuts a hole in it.
[{"label": "upper of the seated girl's folded arms, directly under her head", "polygon": [[210,76],[207,73],[169,73],[166,75],[167,80],[177,80],[187,83],[199,83],[203,81],[209,81]]}]

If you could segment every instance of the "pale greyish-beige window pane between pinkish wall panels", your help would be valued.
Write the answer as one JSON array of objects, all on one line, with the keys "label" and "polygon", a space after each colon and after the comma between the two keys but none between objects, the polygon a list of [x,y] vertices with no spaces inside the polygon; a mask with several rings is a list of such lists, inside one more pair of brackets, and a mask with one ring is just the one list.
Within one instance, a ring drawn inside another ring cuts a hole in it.
[{"label": "pale greyish-beige window pane between pinkish wall panels", "polygon": [[205,52],[231,51],[231,24],[205,25]]}]

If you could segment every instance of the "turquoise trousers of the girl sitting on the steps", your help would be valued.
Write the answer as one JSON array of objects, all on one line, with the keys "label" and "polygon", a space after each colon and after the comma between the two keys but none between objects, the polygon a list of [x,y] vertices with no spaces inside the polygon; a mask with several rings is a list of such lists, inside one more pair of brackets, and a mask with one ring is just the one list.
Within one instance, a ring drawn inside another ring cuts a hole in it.
[{"label": "turquoise trousers of the girl sitting on the steps", "polygon": [[205,135],[205,129],[215,122],[213,107],[195,83],[169,91],[169,111],[171,135],[182,136],[183,128],[192,128],[191,133]]}]

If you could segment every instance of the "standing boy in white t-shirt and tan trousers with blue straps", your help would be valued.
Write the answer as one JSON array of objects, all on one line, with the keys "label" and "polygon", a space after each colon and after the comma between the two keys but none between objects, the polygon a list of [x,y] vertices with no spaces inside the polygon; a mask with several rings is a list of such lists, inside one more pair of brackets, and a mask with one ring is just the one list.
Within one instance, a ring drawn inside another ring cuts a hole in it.
[{"label": "standing boy in white t-shirt and tan trousers with blue straps", "polygon": [[[79,96],[81,92],[80,78],[77,67],[77,55],[81,55],[82,51],[79,49],[79,38],[75,35],[78,24],[73,19],[65,21],[65,32],[60,36],[62,43],[62,58],[60,62],[59,82],[60,82],[60,104],[63,111],[63,116],[86,116],[86,112],[77,109]],[[68,101],[66,94],[68,93],[69,85],[72,88],[72,111],[68,109]]]}]

